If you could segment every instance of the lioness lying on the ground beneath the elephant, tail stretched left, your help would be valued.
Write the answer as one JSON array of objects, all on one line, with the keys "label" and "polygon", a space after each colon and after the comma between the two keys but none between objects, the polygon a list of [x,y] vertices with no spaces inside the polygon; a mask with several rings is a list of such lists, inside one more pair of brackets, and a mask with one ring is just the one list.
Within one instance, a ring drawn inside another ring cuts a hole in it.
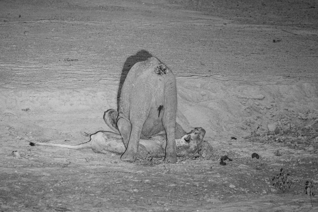
[{"label": "lioness lying on the ground beneath the elephant, tail stretched left", "polygon": [[[185,134],[181,139],[176,139],[176,154],[180,157],[193,156],[204,143],[205,130],[201,127],[194,128],[190,133]],[[166,136],[156,135],[149,139],[140,139],[138,147],[139,157],[162,157],[165,155]],[[90,136],[90,140],[79,145],[67,145],[56,143],[30,142],[31,146],[64,147],[69,149],[92,149],[96,153],[121,155],[126,147],[121,135],[109,132],[98,131]]]}]

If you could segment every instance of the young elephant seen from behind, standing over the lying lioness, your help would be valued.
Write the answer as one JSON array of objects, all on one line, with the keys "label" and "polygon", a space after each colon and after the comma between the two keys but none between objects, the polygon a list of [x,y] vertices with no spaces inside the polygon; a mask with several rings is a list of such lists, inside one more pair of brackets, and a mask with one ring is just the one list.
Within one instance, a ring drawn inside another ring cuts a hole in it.
[{"label": "young elephant seen from behind, standing over the lying lioness", "polygon": [[128,72],[119,99],[118,130],[126,151],[122,161],[135,161],[139,139],[165,131],[165,162],[176,158],[176,78],[157,58],[136,63]]}]

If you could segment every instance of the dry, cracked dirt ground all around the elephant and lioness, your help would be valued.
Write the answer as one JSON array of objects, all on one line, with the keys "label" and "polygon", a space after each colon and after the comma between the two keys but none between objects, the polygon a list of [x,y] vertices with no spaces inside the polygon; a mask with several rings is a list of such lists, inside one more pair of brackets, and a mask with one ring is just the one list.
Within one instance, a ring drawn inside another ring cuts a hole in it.
[{"label": "dry, cracked dirt ground all around the elephant and lioness", "polygon": [[[317,20],[314,0],[0,0],[0,211],[317,211]],[[150,55],[213,157],[29,146],[109,130],[104,111]]]}]

